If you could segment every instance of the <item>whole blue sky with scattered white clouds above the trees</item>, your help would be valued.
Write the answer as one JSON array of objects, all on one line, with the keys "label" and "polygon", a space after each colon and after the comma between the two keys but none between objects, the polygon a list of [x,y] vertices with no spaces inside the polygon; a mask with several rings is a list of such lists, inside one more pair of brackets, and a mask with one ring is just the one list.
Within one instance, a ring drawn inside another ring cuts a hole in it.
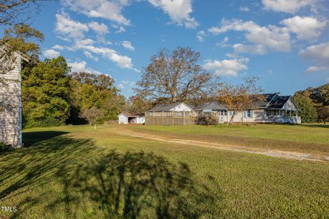
[{"label": "whole blue sky with scattered white clouds above the trees", "polygon": [[223,81],[260,77],[293,94],[329,81],[328,0],[63,0],[44,3],[32,26],[42,57],[106,73],[125,96],[159,49],[192,47]]}]

